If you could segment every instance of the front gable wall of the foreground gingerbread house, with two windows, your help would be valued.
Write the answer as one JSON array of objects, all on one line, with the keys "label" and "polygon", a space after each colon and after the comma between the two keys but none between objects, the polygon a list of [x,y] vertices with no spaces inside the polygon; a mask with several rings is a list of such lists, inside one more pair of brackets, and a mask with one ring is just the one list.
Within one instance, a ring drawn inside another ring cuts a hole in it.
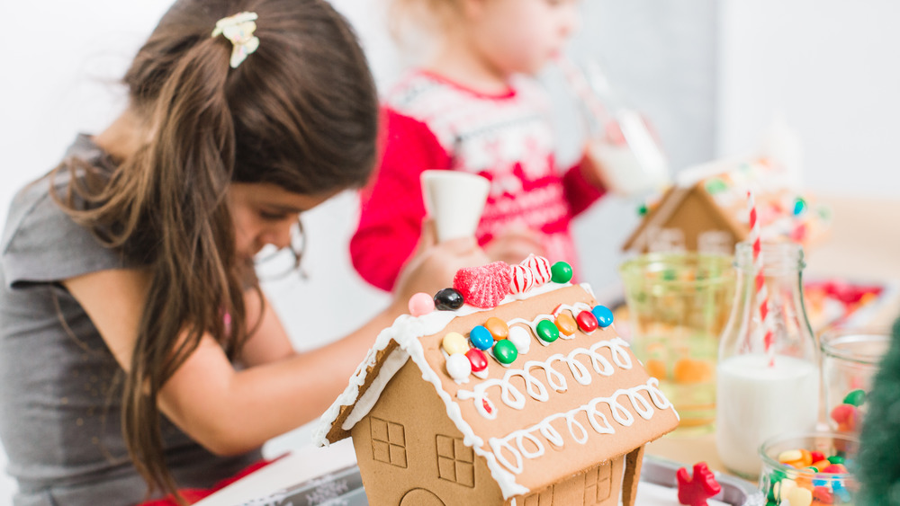
[{"label": "front gable wall of the foreground gingerbread house, with two windows", "polygon": [[411,361],[351,431],[365,494],[374,506],[498,506],[500,486],[446,416]]}]

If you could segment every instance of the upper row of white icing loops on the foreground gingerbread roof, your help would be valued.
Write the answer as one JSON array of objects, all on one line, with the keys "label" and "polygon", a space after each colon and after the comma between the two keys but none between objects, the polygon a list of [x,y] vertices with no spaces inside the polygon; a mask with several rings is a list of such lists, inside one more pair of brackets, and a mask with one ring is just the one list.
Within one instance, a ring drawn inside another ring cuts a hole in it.
[{"label": "upper row of white icing loops on the foreground gingerbread roof", "polygon": [[[632,368],[631,355],[626,350],[628,343],[622,338],[616,337],[609,341],[595,342],[590,346],[590,349],[576,348],[570,351],[568,355],[556,353],[544,361],[529,360],[522,368],[510,368],[502,378],[482,381],[474,386],[472,390],[459,390],[456,393],[456,397],[462,400],[472,399],[475,410],[478,413],[489,420],[494,420],[497,418],[497,410],[487,395],[487,390],[491,387],[500,387],[500,399],[503,401],[503,404],[518,410],[525,408],[526,397],[512,382],[513,378],[518,377],[525,381],[528,395],[531,395],[531,398],[536,401],[544,403],[550,399],[549,391],[544,382],[531,374],[532,369],[541,369],[544,372],[543,376],[547,378],[547,384],[556,392],[564,392],[569,386],[563,373],[554,369],[553,365],[555,362],[562,362],[568,365],[569,370],[572,371],[572,377],[581,385],[590,385],[592,379],[590,371],[581,360],[578,360],[579,357],[587,357],[594,371],[600,376],[612,376],[616,372],[616,368],[613,367],[612,363],[598,352],[600,348],[609,349],[612,353],[613,362],[619,368]],[[487,404],[487,407],[485,407],[485,404]]]}]

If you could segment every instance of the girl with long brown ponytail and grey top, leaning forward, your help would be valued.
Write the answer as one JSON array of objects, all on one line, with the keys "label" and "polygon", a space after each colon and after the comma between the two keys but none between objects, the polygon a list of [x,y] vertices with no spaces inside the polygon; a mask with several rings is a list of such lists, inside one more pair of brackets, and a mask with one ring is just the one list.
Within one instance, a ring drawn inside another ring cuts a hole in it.
[{"label": "girl with long brown ponytail and grey top, leaning forward", "polygon": [[183,501],[234,475],[329,405],[413,293],[485,261],[426,237],[389,308],[297,354],[253,258],[371,173],[377,99],[346,20],[324,0],[179,0],[124,83],[127,110],[17,194],[0,244],[16,505]]}]

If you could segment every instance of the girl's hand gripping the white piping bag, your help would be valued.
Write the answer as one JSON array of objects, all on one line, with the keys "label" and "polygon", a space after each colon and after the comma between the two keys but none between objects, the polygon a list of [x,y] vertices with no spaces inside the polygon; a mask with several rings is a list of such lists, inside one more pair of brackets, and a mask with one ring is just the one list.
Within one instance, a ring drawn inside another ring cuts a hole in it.
[{"label": "girl's hand gripping the white piping bag", "polygon": [[[474,237],[451,239],[437,243],[434,222],[422,224],[419,249],[403,267],[394,286],[394,303],[406,307],[410,297],[419,292],[434,295],[453,286],[456,271],[490,263]],[[405,312],[405,310],[403,311]]]}]

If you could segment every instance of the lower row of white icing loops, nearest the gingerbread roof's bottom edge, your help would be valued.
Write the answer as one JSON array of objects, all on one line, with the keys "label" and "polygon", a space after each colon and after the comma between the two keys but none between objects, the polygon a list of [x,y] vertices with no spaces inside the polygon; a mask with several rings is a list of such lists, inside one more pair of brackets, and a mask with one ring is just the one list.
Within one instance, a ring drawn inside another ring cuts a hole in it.
[{"label": "lower row of white icing loops, nearest the gingerbread roof's bottom edge", "polygon": [[[649,402],[644,395],[641,395],[641,392],[646,392],[650,396]],[[618,422],[619,425],[630,427],[635,422],[635,415],[628,410],[625,404],[619,401],[619,397],[623,395],[631,402],[634,412],[644,420],[653,418],[653,413],[655,413],[654,406],[659,410],[671,409],[672,413],[675,413],[676,417],[678,416],[678,412],[675,411],[669,399],[662,394],[659,388],[659,380],[651,377],[645,385],[617,390],[613,395],[597,397],[591,400],[590,403],[582,404],[571,411],[552,414],[527,429],[512,431],[503,438],[489,439],[488,444],[491,446],[493,457],[497,459],[500,465],[506,467],[509,472],[515,475],[521,474],[525,458],[532,459],[544,455],[545,444],[538,435],[556,447],[565,445],[563,435],[552,425],[552,422],[559,419],[565,421],[566,428],[569,429],[569,434],[575,442],[582,445],[585,444],[590,437],[590,433],[576,419],[576,415],[579,413],[587,415],[588,422],[595,432],[599,434],[615,434],[616,429],[609,423],[607,415],[599,411],[599,404],[607,404],[609,406],[613,420]],[[510,462],[507,455],[513,457],[514,462]]]}]

